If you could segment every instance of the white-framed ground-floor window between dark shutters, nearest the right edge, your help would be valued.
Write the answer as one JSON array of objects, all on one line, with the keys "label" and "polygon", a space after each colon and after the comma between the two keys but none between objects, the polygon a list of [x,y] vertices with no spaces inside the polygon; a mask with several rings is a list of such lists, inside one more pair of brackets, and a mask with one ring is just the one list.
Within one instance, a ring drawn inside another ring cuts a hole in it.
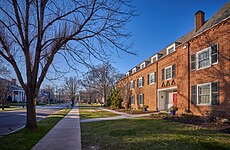
[{"label": "white-framed ground-floor window between dark shutters, nearest the right edge", "polygon": [[210,104],[211,85],[198,85],[198,104]]}]

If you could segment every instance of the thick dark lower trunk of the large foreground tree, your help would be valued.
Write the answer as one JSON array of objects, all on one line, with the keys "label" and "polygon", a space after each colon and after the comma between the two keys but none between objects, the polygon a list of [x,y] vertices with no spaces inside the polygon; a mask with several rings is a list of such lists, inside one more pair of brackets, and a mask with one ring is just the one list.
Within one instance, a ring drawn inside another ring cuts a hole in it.
[{"label": "thick dark lower trunk of the large foreground tree", "polygon": [[26,120],[26,128],[28,129],[36,129],[37,122],[36,122],[36,97],[33,94],[26,94],[27,102],[26,102],[26,109],[27,109],[27,120]]}]

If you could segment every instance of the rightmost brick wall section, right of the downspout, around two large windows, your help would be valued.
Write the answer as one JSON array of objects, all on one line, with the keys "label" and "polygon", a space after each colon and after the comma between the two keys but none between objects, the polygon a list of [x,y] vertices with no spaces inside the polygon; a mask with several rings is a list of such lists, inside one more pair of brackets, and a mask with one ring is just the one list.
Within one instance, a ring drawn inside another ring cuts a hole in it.
[{"label": "rightmost brick wall section, right of the downspout, around two large windows", "polygon": [[190,53],[194,54],[216,43],[219,47],[218,64],[192,71],[190,79],[191,85],[218,81],[220,105],[191,105],[191,111],[199,115],[230,116],[230,19],[190,40]]}]

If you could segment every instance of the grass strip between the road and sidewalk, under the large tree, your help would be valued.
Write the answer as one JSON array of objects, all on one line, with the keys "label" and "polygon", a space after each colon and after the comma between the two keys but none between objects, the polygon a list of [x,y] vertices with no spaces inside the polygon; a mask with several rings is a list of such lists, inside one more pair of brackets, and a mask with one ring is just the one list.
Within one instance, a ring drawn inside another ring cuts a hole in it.
[{"label": "grass strip between the road and sidewalk, under the large tree", "polygon": [[71,109],[60,110],[38,122],[37,130],[22,129],[16,133],[0,137],[0,150],[31,149],[44,137]]}]

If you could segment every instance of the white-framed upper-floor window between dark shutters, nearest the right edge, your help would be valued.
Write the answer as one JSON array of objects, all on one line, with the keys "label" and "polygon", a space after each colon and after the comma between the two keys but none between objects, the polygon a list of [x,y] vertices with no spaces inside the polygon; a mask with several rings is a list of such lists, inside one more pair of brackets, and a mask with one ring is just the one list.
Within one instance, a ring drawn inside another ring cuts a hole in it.
[{"label": "white-framed upper-floor window between dark shutters, nearest the right edge", "polygon": [[210,66],[210,51],[205,49],[198,53],[198,68],[204,68]]}]

